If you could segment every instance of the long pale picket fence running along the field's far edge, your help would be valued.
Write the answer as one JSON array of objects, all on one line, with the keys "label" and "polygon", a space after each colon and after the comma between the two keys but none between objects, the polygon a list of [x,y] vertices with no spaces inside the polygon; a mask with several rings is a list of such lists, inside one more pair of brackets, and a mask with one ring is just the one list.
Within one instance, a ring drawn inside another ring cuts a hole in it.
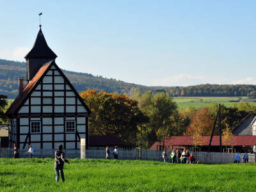
[{"label": "long pale picket fence running along the field's far edge", "polygon": [[[29,157],[26,154],[27,150],[20,150],[19,157]],[[113,150],[111,150],[112,152]],[[52,149],[40,149],[35,150],[33,157],[54,158],[55,150]],[[79,149],[67,149],[63,150],[65,156],[68,159],[80,158]],[[105,148],[90,148],[86,150],[87,159],[105,159]],[[131,150],[118,148],[118,159],[120,160],[148,160],[148,161],[163,161],[162,152],[157,150],[140,150],[140,148],[133,148]],[[220,153],[220,152],[193,152],[196,162],[204,164],[227,164],[234,163],[236,154],[232,153]],[[255,162],[255,154],[248,154],[249,162]],[[170,156],[170,151],[167,151],[167,156]],[[243,154],[240,154],[241,161],[243,162]],[[13,148],[0,148],[0,157],[13,157]],[[110,156],[113,159],[113,156]],[[170,162],[170,159],[167,159]]]}]

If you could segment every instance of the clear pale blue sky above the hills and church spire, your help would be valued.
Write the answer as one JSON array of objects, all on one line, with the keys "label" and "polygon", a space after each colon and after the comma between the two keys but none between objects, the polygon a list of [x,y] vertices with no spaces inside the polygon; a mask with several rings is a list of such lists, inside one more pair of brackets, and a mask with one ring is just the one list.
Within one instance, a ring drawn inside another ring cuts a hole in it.
[{"label": "clear pale blue sky above the hills and church spire", "polygon": [[256,1],[1,1],[0,58],[42,31],[67,70],[148,86],[256,84]]}]

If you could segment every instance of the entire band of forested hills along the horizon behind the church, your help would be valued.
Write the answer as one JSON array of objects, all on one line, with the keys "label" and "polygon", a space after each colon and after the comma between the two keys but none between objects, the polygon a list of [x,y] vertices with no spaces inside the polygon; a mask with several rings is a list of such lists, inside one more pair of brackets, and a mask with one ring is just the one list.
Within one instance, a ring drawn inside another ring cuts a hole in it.
[{"label": "entire band of forested hills along the horizon behind the church", "polygon": [[[63,69],[62,69],[63,70]],[[256,86],[253,84],[200,84],[186,87],[143,86],[125,83],[116,79],[108,79],[92,74],[63,70],[77,92],[84,90],[104,91],[107,93],[122,93],[131,96],[139,90],[141,93],[166,93],[172,97],[256,97]],[[0,60],[0,94],[8,99],[15,99],[18,94],[18,77],[26,78],[26,63]]]}]

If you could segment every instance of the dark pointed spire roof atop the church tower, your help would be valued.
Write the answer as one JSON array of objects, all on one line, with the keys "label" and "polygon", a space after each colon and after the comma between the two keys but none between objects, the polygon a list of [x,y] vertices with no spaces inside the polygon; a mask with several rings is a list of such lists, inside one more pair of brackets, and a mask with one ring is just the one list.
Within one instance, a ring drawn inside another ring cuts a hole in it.
[{"label": "dark pointed spire roof atop the church tower", "polygon": [[56,57],[56,54],[48,47],[44,34],[40,28],[36,36],[35,44],[24,58],[49,58],[54,60]]}]

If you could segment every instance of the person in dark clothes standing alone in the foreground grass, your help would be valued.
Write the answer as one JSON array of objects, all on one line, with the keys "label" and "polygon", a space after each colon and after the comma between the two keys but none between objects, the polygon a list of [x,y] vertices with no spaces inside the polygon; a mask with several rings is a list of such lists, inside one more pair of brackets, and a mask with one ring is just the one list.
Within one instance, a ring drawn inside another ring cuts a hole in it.
[{"label": "person in dark clothes standing alone in the foreground grass", "polygon": [[55,152],[55,163],[54,163],[54,169],[55,169],[55,173],[56,173],[56,182],[59,181],[60,176],[61,176],[61,180],[64,182],[64,172],[63,172],[63,166],[64,166],[64,162],[67,164],[70,164],[68,162],[67,159],[65,159],[65,154],[62,151],[62,145],[59,144],[58,148]]}]

